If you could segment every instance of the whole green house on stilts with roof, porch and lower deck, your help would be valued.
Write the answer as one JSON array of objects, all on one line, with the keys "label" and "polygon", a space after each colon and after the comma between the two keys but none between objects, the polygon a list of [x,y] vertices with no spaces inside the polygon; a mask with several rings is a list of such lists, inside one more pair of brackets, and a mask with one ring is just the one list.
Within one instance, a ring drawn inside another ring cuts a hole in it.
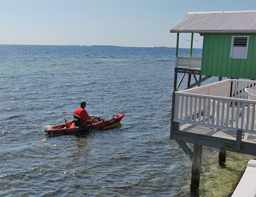
[{"label": "whole green house on stilts with roof, porch and lower deck", "polygon": [[[198,188],[202,146],[220,149],[220,164],[226,151],[256,155],[256,10],[189,12],[170,32],[177,33],[170,138],[191,158]],[[178,56],[180,33],[191,33],[190,57]],[[192,57],[194,33],[204,36],[202,57]],[[186,74],[187,88],[177,91]],[[220,81],[200,86],[212,76]]]}]

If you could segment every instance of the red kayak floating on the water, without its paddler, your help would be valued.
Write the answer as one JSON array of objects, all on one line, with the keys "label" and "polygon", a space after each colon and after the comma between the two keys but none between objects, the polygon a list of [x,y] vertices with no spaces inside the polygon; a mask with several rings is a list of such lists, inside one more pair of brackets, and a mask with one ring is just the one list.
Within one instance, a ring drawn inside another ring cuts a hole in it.
[{"label": "red kayak floating on the water, without its paddler", "polygon": [[[45,129],[45,132],[49,135],[75,135],[79,133],[86,133],[92,129],[107,129],[108,127],[113,127],[114,124],[120,123],[121,119],[125,114],[120,115],[112,115],[110,117],[94,117],[98,118],[99,123],[95,123],[92,125],[82,125],[75,126],[74,121],[68,121],[65,124],[60,124],[48,129]],[[108,119],[108,120],[107,120]]]}]

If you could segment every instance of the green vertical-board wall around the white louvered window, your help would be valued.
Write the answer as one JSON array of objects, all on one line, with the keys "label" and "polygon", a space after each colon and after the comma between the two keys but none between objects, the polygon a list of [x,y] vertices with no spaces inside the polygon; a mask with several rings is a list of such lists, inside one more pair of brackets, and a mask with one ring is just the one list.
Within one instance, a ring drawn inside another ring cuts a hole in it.
[{"label": "green vertical-board wall around the white louvered window", "polygon": [[[230,59],[232,36],[250,36],[246,60]],[[256,79],[256,34],[205,33],[201,74]]]}]

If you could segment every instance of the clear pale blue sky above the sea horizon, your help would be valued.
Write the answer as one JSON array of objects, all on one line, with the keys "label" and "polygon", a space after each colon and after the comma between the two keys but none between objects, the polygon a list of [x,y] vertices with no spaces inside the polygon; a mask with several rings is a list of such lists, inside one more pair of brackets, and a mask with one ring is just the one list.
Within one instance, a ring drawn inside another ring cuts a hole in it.
[{"label": "clear pale blue sky above the sea horizon", "polygon": [[230,10],[256,10],[256,0],[0,0],[0,44],[175,47],[170,29],[187,12]]}]

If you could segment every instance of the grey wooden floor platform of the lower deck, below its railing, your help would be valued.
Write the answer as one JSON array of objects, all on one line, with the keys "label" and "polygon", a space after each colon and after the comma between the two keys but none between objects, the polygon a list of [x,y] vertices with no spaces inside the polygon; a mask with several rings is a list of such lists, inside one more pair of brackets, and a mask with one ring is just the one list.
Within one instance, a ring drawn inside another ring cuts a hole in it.
[{"label": "grey wooden floor platform of the lower deck, below its railing", "polygon": [[226,151],[256,155],[256,135],[249,134],[243,139],[243,132],[214,129],[192,124],[183,124],[180,129],[173,129],[171,139],[178,142],[194,143],[213,148],[224,148]]}]

